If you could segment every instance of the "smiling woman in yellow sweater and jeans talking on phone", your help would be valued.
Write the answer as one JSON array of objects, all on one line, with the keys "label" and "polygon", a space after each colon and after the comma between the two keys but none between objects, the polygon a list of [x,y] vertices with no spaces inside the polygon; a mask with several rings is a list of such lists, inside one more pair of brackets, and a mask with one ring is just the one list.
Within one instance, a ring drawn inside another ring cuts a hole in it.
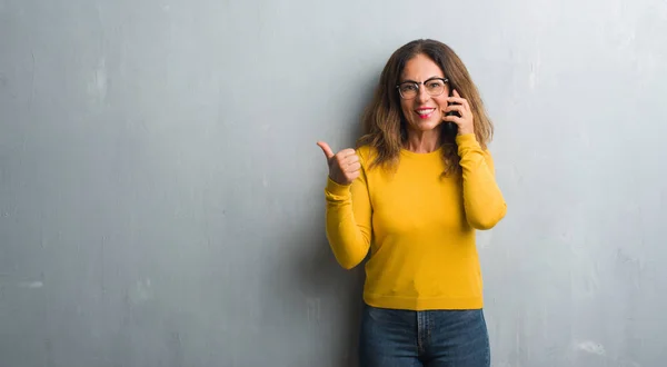
[{"label": "smiling woman in yellow sweater and jeans talking on phone", "polygon": [[350,269],[370,250],[361,366],[489,366],[475,230],[507,207],[477,88],[449,47],[416,40],[390,57],[362,120],[356,150],[318,142],[334,255]]}]

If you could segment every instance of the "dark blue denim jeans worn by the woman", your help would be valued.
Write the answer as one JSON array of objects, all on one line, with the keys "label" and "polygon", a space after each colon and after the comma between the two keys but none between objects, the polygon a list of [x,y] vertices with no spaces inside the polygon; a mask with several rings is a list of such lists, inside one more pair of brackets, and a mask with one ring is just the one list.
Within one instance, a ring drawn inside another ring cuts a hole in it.
[{"label": "dark blue denim jeans worn by the woman", "polygon": [[484,311],[364,306],[360,367],[489,367]]}]

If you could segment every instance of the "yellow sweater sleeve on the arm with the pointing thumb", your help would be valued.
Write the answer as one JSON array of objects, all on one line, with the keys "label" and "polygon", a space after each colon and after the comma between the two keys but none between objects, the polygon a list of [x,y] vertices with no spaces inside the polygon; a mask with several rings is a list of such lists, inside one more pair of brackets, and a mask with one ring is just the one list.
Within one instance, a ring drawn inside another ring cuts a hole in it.
[{"label": "yellow sweater sleeve on the arm with the pointing thumb", "polygon": [[327,178],[325,198],[329,246],[338,264],[351,269],[366,258],[372,232],[372,209],[364,165],[351,185],[339,185]]}]

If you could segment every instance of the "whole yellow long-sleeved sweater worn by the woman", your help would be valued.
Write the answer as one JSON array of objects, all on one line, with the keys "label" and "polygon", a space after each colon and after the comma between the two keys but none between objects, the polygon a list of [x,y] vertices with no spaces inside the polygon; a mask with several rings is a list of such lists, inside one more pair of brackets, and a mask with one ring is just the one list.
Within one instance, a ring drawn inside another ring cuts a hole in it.
[{"label": "whole yellow long-sleeved sweater worn by the woman", "polygon": [[361,175],[349,186],[328,179],[327,238],[346,269],[366,262],[364,300],[376,307],[475,309],[482,279],[475,229],[492,228],[507,206],[494,162],[475,135],[457,139],[462,180],[441,178],[441,151],[402,150],[396,171],[358,149]]}]

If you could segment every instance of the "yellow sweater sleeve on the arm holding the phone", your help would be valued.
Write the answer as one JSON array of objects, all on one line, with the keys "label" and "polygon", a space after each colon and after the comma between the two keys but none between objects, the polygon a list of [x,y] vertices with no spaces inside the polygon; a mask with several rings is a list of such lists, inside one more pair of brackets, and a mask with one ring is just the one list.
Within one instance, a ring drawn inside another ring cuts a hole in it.
[{"label": "yellow sweater sleeve on the arm holding the phone", "polygon": [[476,229],[494,228],[505,217],[507,204],[496,182],[491,153],[481,149],[474,133],[457,136],[456,142],[468,224]]}]

